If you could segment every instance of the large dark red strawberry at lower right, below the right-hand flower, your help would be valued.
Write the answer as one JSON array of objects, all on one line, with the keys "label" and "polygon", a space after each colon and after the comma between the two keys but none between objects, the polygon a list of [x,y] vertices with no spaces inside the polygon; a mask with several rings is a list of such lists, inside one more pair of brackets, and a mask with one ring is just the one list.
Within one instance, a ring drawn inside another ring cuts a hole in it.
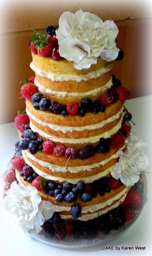
[{"label": "large dark red strawberry at lower right, below the right-hand flower", "polygon": [[142,206],[142,196],[134,189],[129,190],[126,199],[124,199],[124,202],[121,204],[122,208],[126,208],[128,206],[135,209]]}]

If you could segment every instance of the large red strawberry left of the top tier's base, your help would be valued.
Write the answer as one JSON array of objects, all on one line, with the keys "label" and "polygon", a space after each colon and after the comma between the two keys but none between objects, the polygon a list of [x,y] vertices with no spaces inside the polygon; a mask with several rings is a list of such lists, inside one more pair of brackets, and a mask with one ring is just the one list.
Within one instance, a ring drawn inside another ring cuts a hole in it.
[{"label": "large red strawberry left of the top tier's base", "polygon": [[33,94],[36,92],[38,92],[38,89],[33,83],[27,83],[21,87],[21,95],[24,99],[28,99],[28,101],[31,100]]}]

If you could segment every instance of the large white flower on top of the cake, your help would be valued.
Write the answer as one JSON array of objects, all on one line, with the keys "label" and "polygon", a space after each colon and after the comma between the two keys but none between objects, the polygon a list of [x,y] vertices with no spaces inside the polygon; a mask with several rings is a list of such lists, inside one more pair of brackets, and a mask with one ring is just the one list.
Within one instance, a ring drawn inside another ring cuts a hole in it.
[{"label": "large white flower on top of the cake", "polygon": [[97,57],[113,61],[119,54],[115,39],[119,30],[113,21],[102,21],[97,15],[78,10],[64,12],[56,30],[59,53],[75,68],[82,70],[97,63]]}]

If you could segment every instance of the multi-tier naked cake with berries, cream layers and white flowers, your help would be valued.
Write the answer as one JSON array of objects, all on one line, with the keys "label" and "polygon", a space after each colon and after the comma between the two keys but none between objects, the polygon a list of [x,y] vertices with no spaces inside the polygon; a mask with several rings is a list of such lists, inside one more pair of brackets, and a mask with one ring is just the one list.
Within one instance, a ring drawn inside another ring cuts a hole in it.
[{"label": "multi-tier naked cake with berries, cream layers and white flowers", "polygon": [[24,230],[108,233],[143,204],[145,144],[130,132],[130,90],[111,74],[123,58],[117,34],[79,10],[31,36],[35,76],[21,81],[26,113],[15,117],[20,141],[5,177],[6,208]]}]

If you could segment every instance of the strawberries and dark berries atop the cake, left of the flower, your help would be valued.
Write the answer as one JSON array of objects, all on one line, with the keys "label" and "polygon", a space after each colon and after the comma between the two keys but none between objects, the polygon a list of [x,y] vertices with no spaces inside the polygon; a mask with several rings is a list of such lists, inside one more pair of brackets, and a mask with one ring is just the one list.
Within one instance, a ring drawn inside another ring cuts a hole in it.
[{"label": "strawberries and dark berries atop the cake, left of the flower", "polygon": [[[31,26],[29,26],[32,29]],[[33,30],[33,29],[32,29]],[[55,35],[55,26],[47,26],[43,34],[37,33],[31,35],[29,42],[30,50],[33,54],[40,54],[43,57],[52,57],[55,61],[62,59],[59,54],[59,46]]]}]

